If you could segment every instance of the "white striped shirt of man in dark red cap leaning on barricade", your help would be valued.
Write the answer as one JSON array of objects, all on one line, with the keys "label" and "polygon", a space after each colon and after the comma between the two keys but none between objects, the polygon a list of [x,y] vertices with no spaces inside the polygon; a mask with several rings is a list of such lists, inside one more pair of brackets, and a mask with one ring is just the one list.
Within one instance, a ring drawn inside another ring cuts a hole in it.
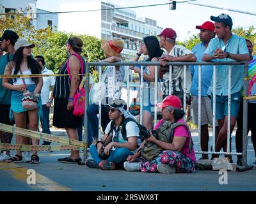
[{"label": "white striped shirt of man in dark red cap leaning on barricade", "polygon": [[[193,54],[191,50],[188,50],[186,47],[182,45],[175,45],[172,50],[169,53],[166,53],[168,55],[171,55],[173,57],[179,57],[184,55]],[[184,66],[183,65],[173,65],[172,66],[172,92],[184,92]],[[163,75],[164,81],[166,83],[164,84],[164,87],[166,89],[163,89],[164,95],[169,95],[169,72],[164,73]],[[189,93],[191,87],[191,73],[189,66],[186,67],[186,89],[187,93]],[[181,89],[180,89],[181,88]]]}]

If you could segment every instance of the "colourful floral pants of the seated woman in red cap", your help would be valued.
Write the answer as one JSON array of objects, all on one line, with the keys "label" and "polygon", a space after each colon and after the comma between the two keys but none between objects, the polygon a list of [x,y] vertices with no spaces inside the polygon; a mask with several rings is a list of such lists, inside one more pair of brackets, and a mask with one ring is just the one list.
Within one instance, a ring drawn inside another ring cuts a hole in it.
[{"label": "colourful floral pants of the seated woman in red cap", "polygon": [[152,161],[147,161],[141,158],[138,160],[141,163],[142,172],[156,172],[156,166],[160,163],[169,164],[170,166],[175,167],[177,173],[191,173],[195,170],[195,162],[192,159],[173,150],[163,151]]}]

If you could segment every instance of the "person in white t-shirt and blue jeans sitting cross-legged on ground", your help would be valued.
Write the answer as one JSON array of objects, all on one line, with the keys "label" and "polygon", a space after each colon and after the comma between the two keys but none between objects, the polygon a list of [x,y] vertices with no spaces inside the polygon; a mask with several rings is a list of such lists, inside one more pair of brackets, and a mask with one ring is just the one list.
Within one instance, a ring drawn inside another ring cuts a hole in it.
[{"label": "person in white t-shirt and blue jeans sitting cross-legged on ground", "polygon": [[[132,150],[137,147],[140,130],[134,122],[134,117],[126,111],[127,105],[123,99],[115,99],[114,103],[105,106],[108,107],[111,121],[102,140],[90,146],[92,159],[87,159],[86,166],[102,170],[115,170],[116,167],[123,166],[127,156],[133,154]],[[125,119],[131,119],[125,126],[126,136],[122,135],[122,124]]]}]

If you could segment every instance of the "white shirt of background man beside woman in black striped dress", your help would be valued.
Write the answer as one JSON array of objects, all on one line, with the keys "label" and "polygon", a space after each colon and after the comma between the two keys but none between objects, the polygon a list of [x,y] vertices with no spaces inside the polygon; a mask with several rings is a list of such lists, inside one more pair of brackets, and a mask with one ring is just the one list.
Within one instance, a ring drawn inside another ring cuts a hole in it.
[{"label": "white shirt of background man beside woman in black striped dress", "polygon": [[[42,75],[53,75],[53,71],[46,67],[42,71]],[[55,77],[43,77],[44,85],[41,89],[42,105],[45,105],[50,98],[50,87],[55,84]]]}]

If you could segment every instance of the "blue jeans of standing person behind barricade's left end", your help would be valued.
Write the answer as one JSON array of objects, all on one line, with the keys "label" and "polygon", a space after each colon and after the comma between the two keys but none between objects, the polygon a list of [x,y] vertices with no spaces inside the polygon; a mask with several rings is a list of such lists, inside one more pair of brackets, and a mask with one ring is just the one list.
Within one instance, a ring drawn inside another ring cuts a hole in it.
[{"label": "blue jeans of standing person behind barricade's left end", "polygon": [[[102,130],[105,131],[110,119],[108,117],[108,108],[104,105],[101,105],[101,126]],[[92,104],[88,106],[87,110],[87,117],[88,117],[88,134],[92,135],[92,138],[98,138],[98,131],[99,131],[99,120],[97,114],[99,114],[99,105]]]}]

